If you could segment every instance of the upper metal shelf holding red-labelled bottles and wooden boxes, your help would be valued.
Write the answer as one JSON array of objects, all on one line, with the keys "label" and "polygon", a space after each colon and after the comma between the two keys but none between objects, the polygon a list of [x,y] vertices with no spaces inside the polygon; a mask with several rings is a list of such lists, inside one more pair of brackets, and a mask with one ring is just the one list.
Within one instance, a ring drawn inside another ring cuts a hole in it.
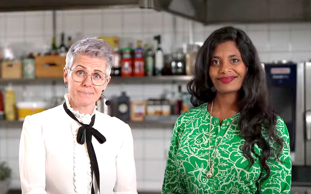
[{"label": "upper metal shelf holding red-labelled bottles and wooden boxes", "polygon": [[[191,75],[164,75],[152,77],[111,77],[109,84],[164,84],[164,83],[188,83]],[[63,78],[37,78],[37,79],[0,79],[0,85],[12,83],[14,85],[24,84],[63,84]]]}]

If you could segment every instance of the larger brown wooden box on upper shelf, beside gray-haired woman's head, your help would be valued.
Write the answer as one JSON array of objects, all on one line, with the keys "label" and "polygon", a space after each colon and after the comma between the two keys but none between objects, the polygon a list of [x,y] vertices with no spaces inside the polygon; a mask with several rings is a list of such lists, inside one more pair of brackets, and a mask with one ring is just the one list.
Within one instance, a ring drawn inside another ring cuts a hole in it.
[{"label": "larger brown wooden box on upper shelf, beside gray-haired woman's head", "polygon": [[60,78],[64,75],[66,56],[36,56],[36,76],[38,78]]}]

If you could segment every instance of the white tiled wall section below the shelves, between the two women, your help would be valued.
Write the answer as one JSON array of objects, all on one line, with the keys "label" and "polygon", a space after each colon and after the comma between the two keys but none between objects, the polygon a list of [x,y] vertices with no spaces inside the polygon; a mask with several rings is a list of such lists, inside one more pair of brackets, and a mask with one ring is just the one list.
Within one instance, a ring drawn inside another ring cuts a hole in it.
[{"label": "white tiled wall section below the shelves, between the two women", "polygon": [[139,191],[160,191],[171,133],[172,128],[132,129]]}]

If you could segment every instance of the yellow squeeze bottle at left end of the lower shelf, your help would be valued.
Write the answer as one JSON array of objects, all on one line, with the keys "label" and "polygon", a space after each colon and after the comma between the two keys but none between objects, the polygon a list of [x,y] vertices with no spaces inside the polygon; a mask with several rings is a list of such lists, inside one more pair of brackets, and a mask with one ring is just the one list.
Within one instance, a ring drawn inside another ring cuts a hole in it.
[{"label": "yellow squeeze bottle at left end of the lower shelf", "polygon": [[6,120],[16,120],[16,96],[12,84],[9,84],[4,95],[4,114]]}]

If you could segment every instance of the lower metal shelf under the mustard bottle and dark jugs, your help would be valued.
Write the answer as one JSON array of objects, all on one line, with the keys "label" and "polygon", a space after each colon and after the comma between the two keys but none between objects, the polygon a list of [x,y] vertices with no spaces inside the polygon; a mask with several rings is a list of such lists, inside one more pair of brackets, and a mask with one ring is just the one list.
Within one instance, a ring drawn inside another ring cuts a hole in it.
[{"label": "lower metal shelf under the mustard bottle and dark jugs", "polygon": [[[170,128],[173,129],[175,120],[167,121],[128,121],[126,122],[131,129],[151,129],[151,128]],[[21,129],[23,121],[0,121],[0,128],[16,128]]]}]

